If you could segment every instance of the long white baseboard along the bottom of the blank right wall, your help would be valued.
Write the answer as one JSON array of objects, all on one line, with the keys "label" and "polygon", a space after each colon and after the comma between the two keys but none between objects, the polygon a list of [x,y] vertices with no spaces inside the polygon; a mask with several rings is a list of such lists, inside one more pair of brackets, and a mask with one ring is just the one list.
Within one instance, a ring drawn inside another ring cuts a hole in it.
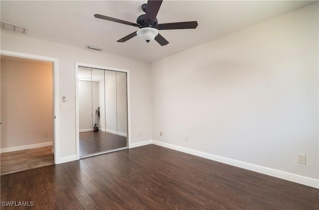
[{"label": "long white baseboard along the bottom of the blank right wall", "polygon": [[188,148],[184,148],[184,147],[179,147],[179,146],[167,144],[167,143],[160,142],[160,141],[153,140],[152,142],[153,142],[153,144],[161,146],[161,147],[166,147],[169,149],[177,150],[179,152],[195,155],[198,157],[206,158],[209,160],[217,161],[217,162],[228,164],[231,166],[236,166],[236,167],[239,167],[242,169],[247,169],[250,171],[258,172],[261,174],[269,175],[272,177],[280,178],[283,180],[287,180],[287,181],[291,181],[291,182],[295,182],[295,183],[299,183],[302,185],[306,185],[306,186],[310,186],[310,187],[319,189],[319,180],[316,180],[313,178],[304,177],[304,176],[300,176],[300,175],[296,175],[296,174],[291,174],[288,172],[283,172],[283,171],[279,171],[276,169],[271,169],[271,168],[267,168],[267,167],[263,167],[263,166],[250,164],[250,163],[245,163],[245,162],[233,160],[230,158],[224,158],[221,156],[212,155],[212,154],[208,154],[208,153],[204,153],[204,152],[200,152],[200,151],[196,151],[196,150],[192,150],[192,149],[188,149]]}]

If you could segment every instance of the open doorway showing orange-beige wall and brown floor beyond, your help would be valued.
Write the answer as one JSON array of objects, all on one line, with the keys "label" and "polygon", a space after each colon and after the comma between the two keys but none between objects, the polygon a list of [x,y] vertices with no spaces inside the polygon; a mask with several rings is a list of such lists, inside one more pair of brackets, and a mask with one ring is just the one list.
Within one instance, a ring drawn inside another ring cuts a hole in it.
[{"label": "open doorway showing orange-beige wall and brown floor beyond", "polygon": [[54,164],[52,71],[52,62],[1,55],[1,175]]}]

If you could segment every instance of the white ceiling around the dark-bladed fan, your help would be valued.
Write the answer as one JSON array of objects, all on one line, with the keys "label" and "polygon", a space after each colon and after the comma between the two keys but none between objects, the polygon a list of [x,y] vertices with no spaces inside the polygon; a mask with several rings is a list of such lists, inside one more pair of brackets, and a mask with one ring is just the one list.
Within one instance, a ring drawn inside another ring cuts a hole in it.
[{"label": "white ceiling around the dark-bladed fan", "polygon": [[[96,13],[136,22],[147,1],[12,1],[1,0],[1,20],[29,27],[26,35],[68,44],[102,47],[110,53],[143,61],[154,61],[193,46],[241,30],[318,1],[212,1],[163,0],[159,23],[197,20],[196,29],[160,30],[169,44],[146,43],[138,36],[124,43],[118,39],[136,31],[130,25],[95,18]],[[14,33],[4,31],[1,33]],[[89,50],[89,49],[87,49]]]}]

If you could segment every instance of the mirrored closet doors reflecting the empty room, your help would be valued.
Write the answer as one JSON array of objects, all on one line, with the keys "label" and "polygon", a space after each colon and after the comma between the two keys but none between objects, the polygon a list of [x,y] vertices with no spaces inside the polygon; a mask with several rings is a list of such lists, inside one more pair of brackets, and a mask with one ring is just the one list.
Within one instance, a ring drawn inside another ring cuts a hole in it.
[{"label": "mirrored closet doors reflecting the empty room", "polygon": [[78,68],[80,157],[128,146],[127,73]]}]

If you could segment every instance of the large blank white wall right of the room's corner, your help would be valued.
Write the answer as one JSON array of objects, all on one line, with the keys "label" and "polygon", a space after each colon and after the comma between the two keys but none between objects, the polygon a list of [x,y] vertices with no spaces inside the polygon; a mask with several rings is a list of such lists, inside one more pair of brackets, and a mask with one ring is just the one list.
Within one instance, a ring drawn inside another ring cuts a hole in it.
[{"label": "large blank white wall right of the room's corner", "polygon": [[318,27],[316,3],[153,62],[153,139],[318,180]]}]

